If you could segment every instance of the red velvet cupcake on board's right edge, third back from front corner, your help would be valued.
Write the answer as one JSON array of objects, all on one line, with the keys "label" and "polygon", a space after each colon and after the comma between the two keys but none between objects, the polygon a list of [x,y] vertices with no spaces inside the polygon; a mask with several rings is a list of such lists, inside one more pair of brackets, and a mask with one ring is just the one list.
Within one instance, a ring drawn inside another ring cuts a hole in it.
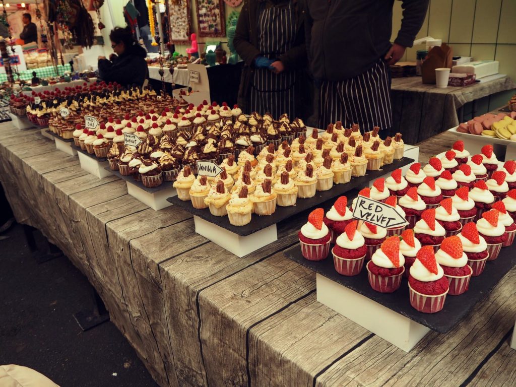
[{"label": "red velvet cupcake on board's right edge, third back from front corner", "polygon": [[477,225],[473,222],[464,224],[462,231],[457,236],[460,238],[462,248],[467,256],[467,264],[473,270],[472,276],[481,275],[489,257],[486,239],[480,236]]}]

